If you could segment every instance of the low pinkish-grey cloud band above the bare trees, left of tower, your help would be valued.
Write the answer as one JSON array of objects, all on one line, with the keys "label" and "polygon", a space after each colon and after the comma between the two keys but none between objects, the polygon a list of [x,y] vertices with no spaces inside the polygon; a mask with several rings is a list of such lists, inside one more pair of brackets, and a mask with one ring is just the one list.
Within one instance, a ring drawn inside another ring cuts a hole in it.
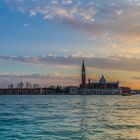
[{"label": "low pinkish-grey cloud band above the bare trees, left of tower", "polygon": [[41,87],[48,87],[50,85],[78,85],[79,77],[75,75],[63,75],[60,73],[48,73],[46,75],[42,74],[24,74],[24,73],[0,73],[0,87],[8,87],[8,84],[14,84],[17,87],[19,82],[26,82],[31,84],[39,84]]}]

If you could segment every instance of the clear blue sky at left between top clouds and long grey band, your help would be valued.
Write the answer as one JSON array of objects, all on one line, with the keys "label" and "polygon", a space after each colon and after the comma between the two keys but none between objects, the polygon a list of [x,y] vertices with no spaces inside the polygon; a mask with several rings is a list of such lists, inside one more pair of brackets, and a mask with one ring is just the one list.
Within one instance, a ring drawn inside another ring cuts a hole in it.
[{"label": "clear blue sky at left between top clouds and long grey band", "polygon": [[72,53],[71,46],[76,50],[86,44],[85,35],[59,22],[44,20],[41,15],[31,17],[29,13],[9,9],[6,4],[1,5],[1,10],[2,55],[62,55],[67,54],[67,49]]}]

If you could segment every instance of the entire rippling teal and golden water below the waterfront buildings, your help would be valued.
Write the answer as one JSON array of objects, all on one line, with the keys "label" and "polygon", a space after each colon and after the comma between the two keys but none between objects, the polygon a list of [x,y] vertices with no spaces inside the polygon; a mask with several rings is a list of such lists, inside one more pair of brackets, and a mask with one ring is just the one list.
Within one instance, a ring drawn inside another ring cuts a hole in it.
[{"label": "entire rippling teal and golden water below the waterfront buildings", "polygon": [[0,96],[0,140],[140,140],[140,95]]}]

